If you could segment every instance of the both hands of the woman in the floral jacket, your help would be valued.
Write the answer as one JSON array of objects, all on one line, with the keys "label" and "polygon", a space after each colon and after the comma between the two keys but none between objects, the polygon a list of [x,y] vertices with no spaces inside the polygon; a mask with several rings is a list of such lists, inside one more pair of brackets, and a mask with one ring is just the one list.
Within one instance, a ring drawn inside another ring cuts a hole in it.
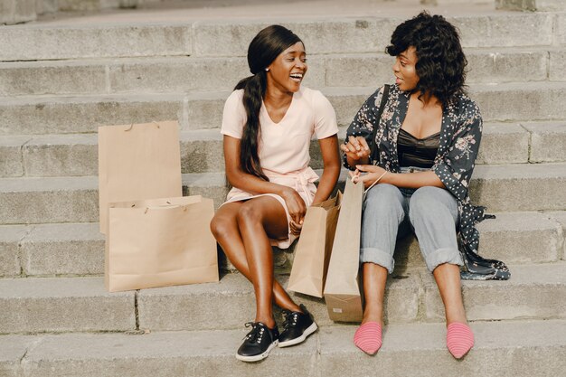
[{"label": "both hands of the woman in the floral jacket", "polygon": [[380,166],[368,165],[371,152],[364,137],[348,137],[348,142],[341,145],[340,150],[348,158],[348,164],[355,164],[355,171],[348,172],[354,183],[362,182],[367,188],[386,173]]}]

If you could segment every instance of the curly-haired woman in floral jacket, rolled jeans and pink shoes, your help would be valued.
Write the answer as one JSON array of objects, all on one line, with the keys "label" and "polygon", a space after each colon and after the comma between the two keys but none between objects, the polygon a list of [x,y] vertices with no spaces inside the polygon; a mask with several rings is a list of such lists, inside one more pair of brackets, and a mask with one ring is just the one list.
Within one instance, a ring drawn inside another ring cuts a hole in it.
[{"label": "curly-haired woman in floral jacket, rolled jeans and pink shoes", "polygon": [[[373,186],[363,203],[365,307],[354,343],[370,354],[381,347],[383,296],[395,242],[412,229],[445,306],[448,350],[461,358],[474,344],[462,302],[460,266],[469,262],[462,255],[474,259],[467,266],[479,261],[484,268],[470,269],[466,278],[509,277],[503,263],[476,256],[475,224],[484,209],[470,203],[468,187],[482,118],[464,89],[467,60],[458,32],[442,16],[421,13],[400,24],[387,52],[396,57],[395,85],[366,100],[341,146],[354,180]],[[373,143],[377,153],[371,156]],[[457,232],[466,253],[458,250]]]}]

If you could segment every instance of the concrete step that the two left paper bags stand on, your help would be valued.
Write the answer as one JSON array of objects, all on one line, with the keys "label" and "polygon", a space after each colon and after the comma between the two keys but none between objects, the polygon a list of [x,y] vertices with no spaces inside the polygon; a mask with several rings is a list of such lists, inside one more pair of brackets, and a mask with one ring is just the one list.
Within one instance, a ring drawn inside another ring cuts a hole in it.
[{"label": "concrete step that the two left paper bags stand on", "polygon": [[[566,262],[510,268],[513,276],[507,281],[462,283],[468,320],[566,318]],[[150,331],[221,330],[239,328],[254,316],[253,287],[240,274],[227,274],[220,283],[120,294],[108,294],[103,280],[0,279],[5,309],[0,313],[0,334],[126,331],[136,325]],[[278,280],[287,286],[288,276],[278,275]],[[334,325],[323,299],[292,295],[319,325]],[[443,322],[443,307],[429,271],[412,269],[390,277],[387,323]]]}]

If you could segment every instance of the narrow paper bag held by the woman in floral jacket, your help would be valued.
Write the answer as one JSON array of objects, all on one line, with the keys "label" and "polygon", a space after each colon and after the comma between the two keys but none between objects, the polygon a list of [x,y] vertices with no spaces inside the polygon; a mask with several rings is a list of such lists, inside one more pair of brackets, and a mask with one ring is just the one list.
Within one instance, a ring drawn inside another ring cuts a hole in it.
[{"label": "narrow paper bag held by the woman in floral jacket", "polygon": [[335,240],[325,283],[325,302],[333,321],[362,320],[362,297],[358,281],[363,183],[346,179]]}]

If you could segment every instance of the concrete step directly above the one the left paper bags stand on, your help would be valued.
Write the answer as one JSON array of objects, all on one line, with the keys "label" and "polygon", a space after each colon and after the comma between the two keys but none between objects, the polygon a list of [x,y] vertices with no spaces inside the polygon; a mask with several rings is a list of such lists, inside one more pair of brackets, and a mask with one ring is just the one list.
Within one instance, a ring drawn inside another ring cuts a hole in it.
[{"label": "concrete step directly above the one the left paper bags stand on", "polygon": [[[496,213],[495,220],[478,225],[480,252],[508,264],[551,263],[564,256],[566,212]],[[104,273],[104,236],[98,222],[0,226],[0,277],[54,277]],[[278,271],[291,269],[295,245],[274,248]],[[221,252],[220,268],[234,268]],[[422,268],[417,240],[400,240],[395,253],[396,273]]]}]

